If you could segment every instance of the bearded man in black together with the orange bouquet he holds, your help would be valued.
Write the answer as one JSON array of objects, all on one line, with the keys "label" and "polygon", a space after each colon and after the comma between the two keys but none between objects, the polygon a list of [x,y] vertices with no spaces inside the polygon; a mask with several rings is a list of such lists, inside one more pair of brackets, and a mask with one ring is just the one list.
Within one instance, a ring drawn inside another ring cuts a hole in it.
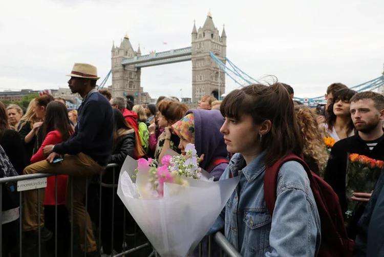
[{"label": "bearded man in black together with the orange bouquet he holds", "polygon": [[[381,127],[384,96],[371,91],[360,92],[350,102],[351,119],[357,134],[333,145],[324,179],[338,195],[348,222],[349,238],[354,239],[356,224],[377,181],[377,173],[373,169],[381,165],[379,161],[384,160],[384,133]],[[360,184],[365,185],[364,190],[358,190],[357,185]],[[351,209],[354,201],[363,204]]]}]

